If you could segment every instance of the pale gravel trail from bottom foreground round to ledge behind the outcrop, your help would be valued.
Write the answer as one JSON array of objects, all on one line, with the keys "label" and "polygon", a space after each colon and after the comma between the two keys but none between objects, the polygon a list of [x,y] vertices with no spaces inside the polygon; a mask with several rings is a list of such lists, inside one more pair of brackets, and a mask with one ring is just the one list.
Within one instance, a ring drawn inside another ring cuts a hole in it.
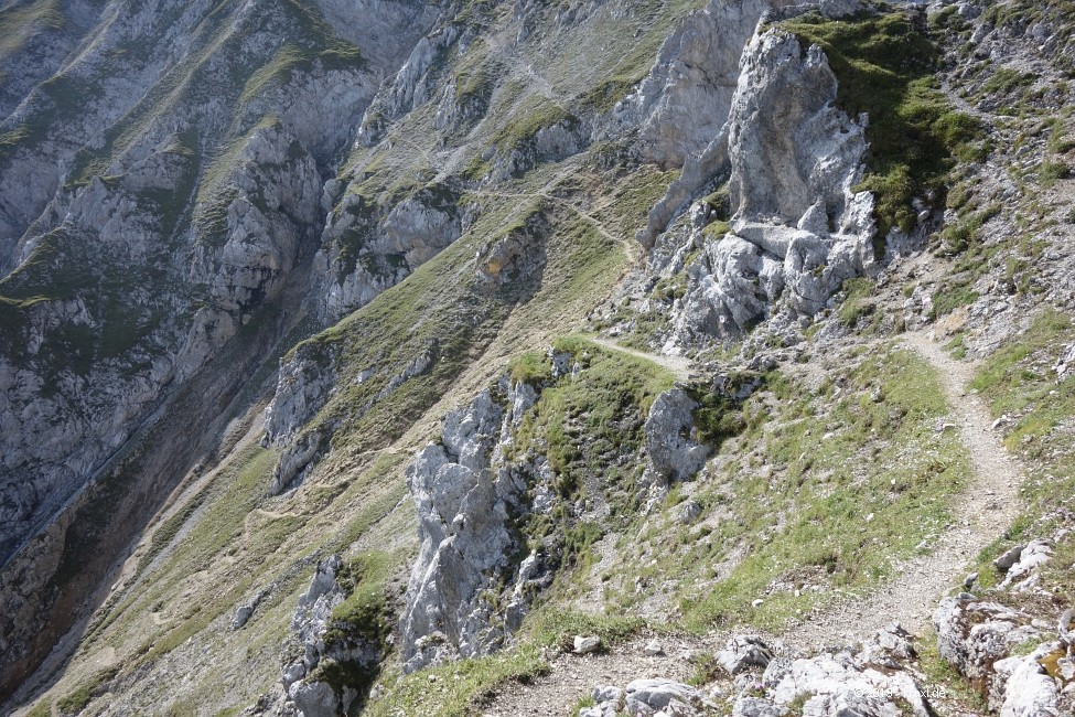
[{"label": "pale gravel trail from bottom foreground round to ledge behind the outcrop", "polygon": [[[684,371],[689,365],[687,360],[632,351],[605,339],[593,341],[673,371],[667,361],[682,361]],[[926,638],[940,598],[958,584],[967,564],[1019,513],[1023,470],[992,428],[986,405],[969,392],[975,364],[952,358],[925,331],[904,335],[902,345],[915,351],[936,370],[950,411],[946,430],[956,430],[966,446],[971,477],[954,499],[953,524],[929,555],[903,561],[897,566],[897,576],[873,592],[829,602],[780,635],[795,648],[813,651],[860,640],[893,621],[920,639]],[[719,633],[662,635],[657,640],[666,654],[660,656],[644,653],[653,635],[635,638],[602,655],[559,654],[551,659],[549,674],[491,696],[482,714],[486,717],[573,715],[579,700],[598,685],[623,686],[645,677],[684,681],[695,671],[691,655],[722,649],[727,636]]]}]

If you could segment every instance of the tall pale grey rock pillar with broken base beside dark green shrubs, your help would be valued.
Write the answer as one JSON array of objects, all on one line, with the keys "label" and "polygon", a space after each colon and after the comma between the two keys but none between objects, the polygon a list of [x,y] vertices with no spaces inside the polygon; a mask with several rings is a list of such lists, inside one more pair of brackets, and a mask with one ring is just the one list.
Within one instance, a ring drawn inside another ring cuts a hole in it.
[{"label": "tall pale grey rock pillar with broken base beside dark green shrubs", "polygon": [[864,129],[834,106],[836,92],[817,46],[804,54],[780,30],[751,41],[725,128],[732,232],[688,234],[702,252],[666,350],[742,335],[778,312],[810,317],[873,268],[873,200],[851,191]]}]

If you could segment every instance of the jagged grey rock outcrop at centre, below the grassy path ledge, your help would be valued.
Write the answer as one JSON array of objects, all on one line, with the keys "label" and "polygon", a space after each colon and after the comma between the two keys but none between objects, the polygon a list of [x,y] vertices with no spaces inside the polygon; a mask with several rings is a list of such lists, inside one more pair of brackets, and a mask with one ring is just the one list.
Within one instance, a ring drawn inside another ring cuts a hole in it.
[{"label": "jagged grey rock outcrop at centre, below the grassy path ledge", "polygon": [[544,456],[505,458],[540,389],[502,378],[442,420],[441,442],[407,469],[421,542],[400,617],[404,668],[487,654],[519,628],[556,561],[542,542],[525,549],[519,526],[551,510]]}]

